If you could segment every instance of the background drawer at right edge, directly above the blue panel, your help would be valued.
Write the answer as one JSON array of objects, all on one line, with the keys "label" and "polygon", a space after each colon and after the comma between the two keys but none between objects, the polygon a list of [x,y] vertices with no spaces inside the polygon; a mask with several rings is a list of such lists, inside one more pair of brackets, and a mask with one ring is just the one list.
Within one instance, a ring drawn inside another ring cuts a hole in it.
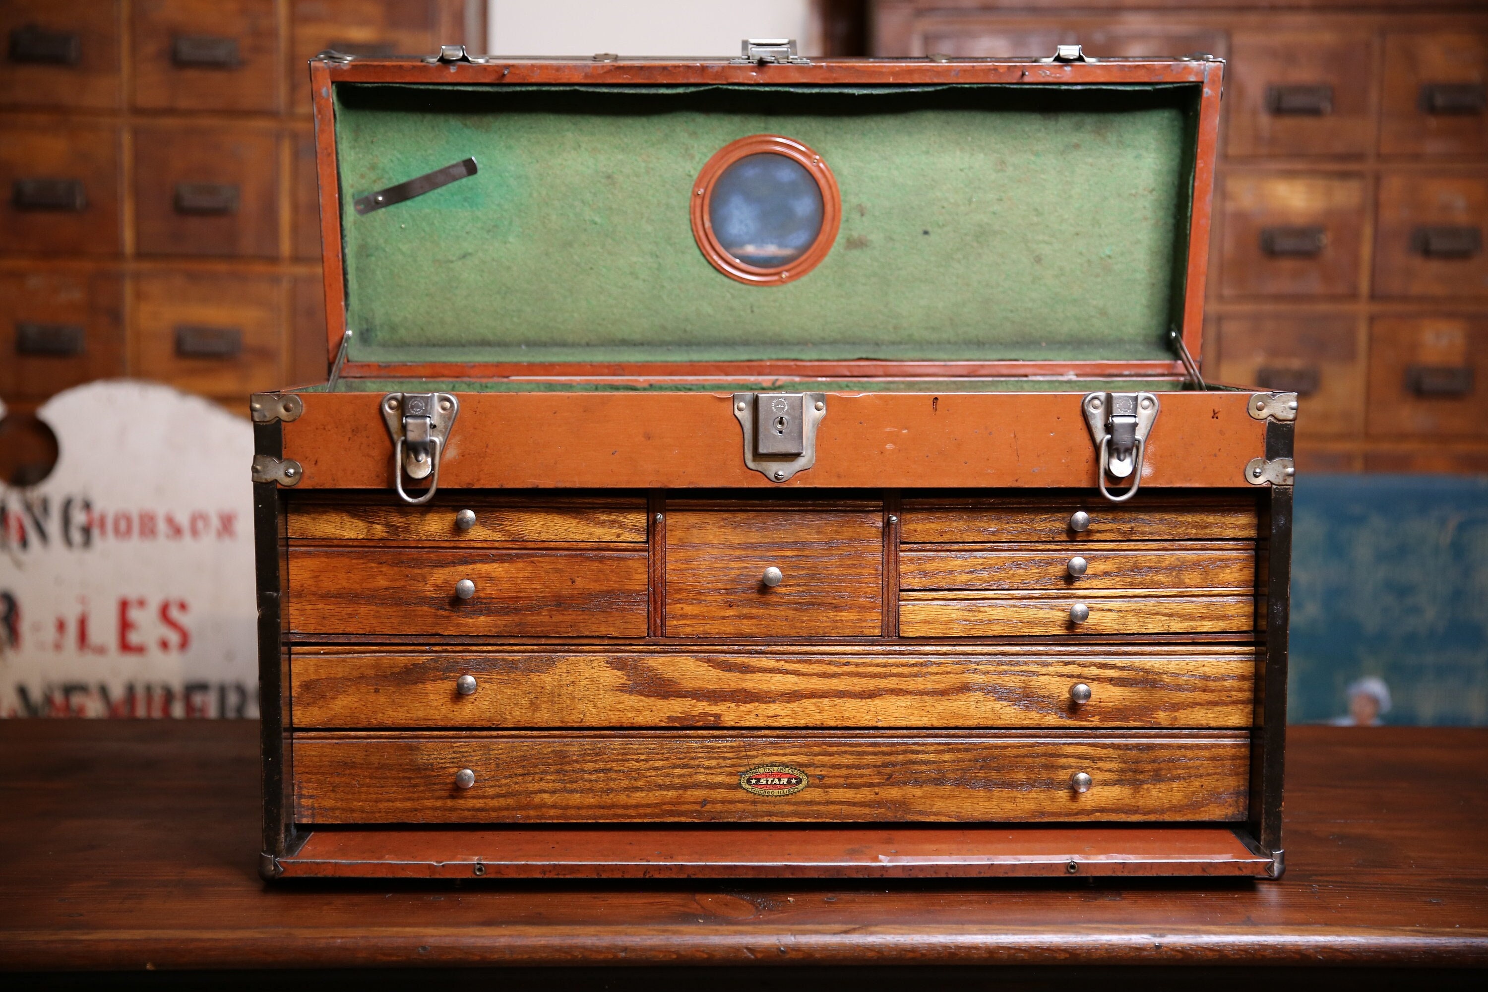
[{"label": "background drawer at right edge, directly above the blue panel", "polygon": [[1376,317],[1372,437],[1488,437],[1488,318]]}]

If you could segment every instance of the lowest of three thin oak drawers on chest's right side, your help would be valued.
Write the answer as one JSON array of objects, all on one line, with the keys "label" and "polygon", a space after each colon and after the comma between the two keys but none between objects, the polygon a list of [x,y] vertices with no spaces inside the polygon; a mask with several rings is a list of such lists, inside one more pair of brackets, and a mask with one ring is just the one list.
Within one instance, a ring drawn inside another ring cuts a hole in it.
[{"label": "lowest of three thin oak drawers on chest's right side", "polygon": [[[1076,607],[1089,613],[1076,622]],[[1052,637],[1058,634],[1245,634],[1253,595],[905,592],[900,637]]]}]

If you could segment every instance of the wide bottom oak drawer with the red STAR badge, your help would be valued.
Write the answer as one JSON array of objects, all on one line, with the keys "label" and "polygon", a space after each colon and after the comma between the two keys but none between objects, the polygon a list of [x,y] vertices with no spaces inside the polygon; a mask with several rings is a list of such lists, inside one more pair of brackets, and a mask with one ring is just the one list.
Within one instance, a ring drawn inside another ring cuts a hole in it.
[{"label": "wide bottom oak drawer with the red STAR badge", "polygon": [[[1223,821],[1245,815],[1248,759],[1235,730],[296,735],[295,818]],[[781,769],[772,787],[805,787],[745,791],[760,767]]]}]

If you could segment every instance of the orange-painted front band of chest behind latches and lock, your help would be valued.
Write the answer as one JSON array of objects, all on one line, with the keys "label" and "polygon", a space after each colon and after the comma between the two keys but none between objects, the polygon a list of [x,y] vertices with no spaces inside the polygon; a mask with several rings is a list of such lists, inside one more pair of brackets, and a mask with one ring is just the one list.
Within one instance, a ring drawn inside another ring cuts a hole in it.
[{"label": "orange-painted front band of chest behind latches and lock", "polygon": [[[744,466],[726,393],[463,393],[440,488],[1095,486],[1080,393],[833,393],[815,467],[772,483]],[[299,489],[387,489],[378,393],[304,393],[284,424]],[[1165,393],[1143,486],[1244,488],[1265,455],[1248,393]]]}]

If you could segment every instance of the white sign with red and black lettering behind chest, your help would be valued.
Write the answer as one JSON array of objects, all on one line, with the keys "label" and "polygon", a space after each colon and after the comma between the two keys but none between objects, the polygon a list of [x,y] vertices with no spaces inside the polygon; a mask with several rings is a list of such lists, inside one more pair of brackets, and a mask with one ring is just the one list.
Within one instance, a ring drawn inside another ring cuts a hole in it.
[{"label": "white sign with red and black lettering behind chest", "polygon": [[251,424],[134,381],[37,416],[55,470],[0,488],[0,715],[257,717]]}]

